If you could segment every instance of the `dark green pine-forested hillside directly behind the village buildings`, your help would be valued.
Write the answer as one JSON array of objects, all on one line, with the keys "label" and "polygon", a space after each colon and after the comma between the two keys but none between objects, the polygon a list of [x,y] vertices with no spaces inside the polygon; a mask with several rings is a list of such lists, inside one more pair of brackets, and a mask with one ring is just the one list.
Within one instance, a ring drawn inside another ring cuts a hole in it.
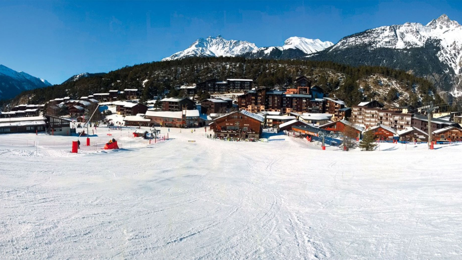
[{"label": "dark green pine-forested hillside directly behind the village buildings", "polygon": [[443,103],[439,95],[435,95],[436,88],[431,82],[405,71],[372,66],[352,67],[323,61],[218,57],[126,66],[107,74],[26,91],[13,99],[11,104],[39,104],[55,98],[79,98],[125,88],[142,89],[142,101],[145,101],[163,93],[170,93],[169,96],[180,94],[177,87],[210,78],[253,79],[255,86],[283,89],[290,87],[300,75],[311,76],[314,86],[322,87],[329,96],[336,96],[348,105],[369,99],[377,99],[388,105],[416,107],[430,102]]}]

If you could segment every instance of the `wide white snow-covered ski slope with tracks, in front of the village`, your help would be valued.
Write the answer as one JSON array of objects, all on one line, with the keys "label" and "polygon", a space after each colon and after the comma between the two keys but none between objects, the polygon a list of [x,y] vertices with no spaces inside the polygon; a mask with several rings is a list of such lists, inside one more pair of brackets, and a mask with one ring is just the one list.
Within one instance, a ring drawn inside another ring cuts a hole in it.
[{"label": "wide white snow-covered ski slope with tracks, in front of the village", "polygon": [[[73,137],[0,135],[1,258],[462,255],[462,145],[322,151],[287,136],[226,142],[172,128],[148,146],[112,133],[124,149],[82,142],[77,155]],[[108,139],[98,134],[92,142]]]}]

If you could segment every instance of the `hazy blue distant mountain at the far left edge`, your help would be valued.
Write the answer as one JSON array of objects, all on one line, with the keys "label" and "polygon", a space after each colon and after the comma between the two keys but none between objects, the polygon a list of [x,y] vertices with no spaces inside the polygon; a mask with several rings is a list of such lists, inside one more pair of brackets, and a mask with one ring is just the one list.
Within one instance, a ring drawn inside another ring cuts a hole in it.
[{"label": "hazy blue distant mountain at the far left edge", "polygon": [[51,84],[47,80],[0,64],[0,99],[11,99],[25,90],[49,86]]}]

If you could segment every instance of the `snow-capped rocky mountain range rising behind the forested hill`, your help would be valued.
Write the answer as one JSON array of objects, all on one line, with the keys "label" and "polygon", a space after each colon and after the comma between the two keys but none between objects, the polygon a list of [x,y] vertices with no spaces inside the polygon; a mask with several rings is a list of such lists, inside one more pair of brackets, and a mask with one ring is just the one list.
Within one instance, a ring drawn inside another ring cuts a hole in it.
[{"label": "snow-capped rocky mountain range rising behind the forested hill", "polygon": [[258,48],[221,36],[200,38],[163,61],[187,57],[242,56],[309,59],[353,66],[385,66],[430,80],[447,101],[462,98],[462,26],[445,14],[427,25],[388,25],[342,38],[338,43],[290,37],[283,46]]}]

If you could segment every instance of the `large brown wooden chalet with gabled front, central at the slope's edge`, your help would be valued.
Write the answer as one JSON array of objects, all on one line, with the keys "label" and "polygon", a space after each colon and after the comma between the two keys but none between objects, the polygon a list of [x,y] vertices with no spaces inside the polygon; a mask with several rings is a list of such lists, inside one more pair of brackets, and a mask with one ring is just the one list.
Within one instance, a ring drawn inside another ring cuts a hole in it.
[{"label": "large brown wooden chalet with gabled front, central at the slope's edge", "polygon": [[249,111],[234,111],[215,118],[210,128],[217,137],[259,138],[265,119]]}]

